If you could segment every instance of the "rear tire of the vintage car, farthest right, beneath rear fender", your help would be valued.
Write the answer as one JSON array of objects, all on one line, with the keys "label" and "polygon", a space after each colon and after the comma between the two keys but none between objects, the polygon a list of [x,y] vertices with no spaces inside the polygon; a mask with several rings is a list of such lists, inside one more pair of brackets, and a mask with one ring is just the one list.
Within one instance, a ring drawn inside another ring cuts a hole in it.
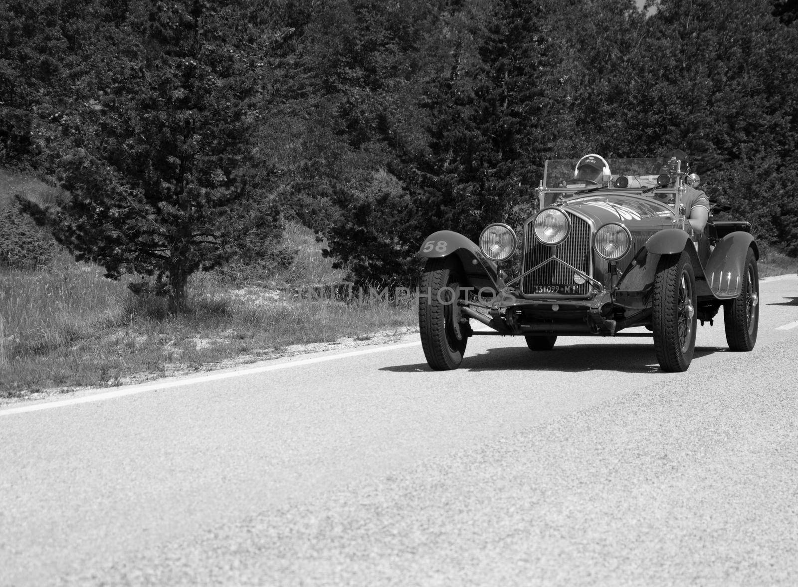
[{"label": "rear tire of the vintage car, farthest right, beneath rear fender", "polygon": [[740,295],[723,306],[726,342],[730,351],[750,351],[757,344],[759,329],[759,270],[757,256],[749,249],[745,257]]}]

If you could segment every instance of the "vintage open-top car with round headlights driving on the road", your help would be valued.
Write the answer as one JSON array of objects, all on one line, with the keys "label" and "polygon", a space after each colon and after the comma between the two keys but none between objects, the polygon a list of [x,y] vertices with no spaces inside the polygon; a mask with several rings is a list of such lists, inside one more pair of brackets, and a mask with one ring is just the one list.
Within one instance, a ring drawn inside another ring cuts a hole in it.
[{"label": "vintage open-top car with round headlights driving on the road", "polygon": [[[710,216],[695,233],[681,203],[689,170],[678,162],[662,173],[662,160],[608,160],[611,174],[596,181],[572,179],[576,163],[547,161],[520,243],[503,223],[485,227],[479,244],[451,230],[425,239],[418,313],[429,365],[457,368],[476,335],[520,335],[533,351],[562,336],[649,336],[663,370],[685,371],[697,321],[713,325],[721,306],[729,349],[753,349],[750,224]],[[645,328],[622,332],[631,327]]]}]

